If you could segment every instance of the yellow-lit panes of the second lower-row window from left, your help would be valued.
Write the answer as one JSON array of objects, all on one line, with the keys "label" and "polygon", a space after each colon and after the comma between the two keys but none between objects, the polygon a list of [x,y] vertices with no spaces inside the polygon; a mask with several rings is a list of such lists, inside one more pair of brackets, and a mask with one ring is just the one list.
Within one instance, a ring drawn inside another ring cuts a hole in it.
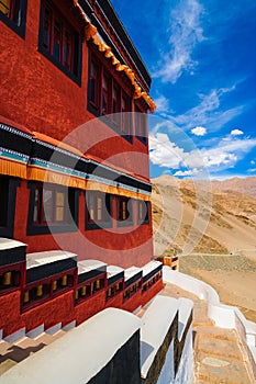
[{"label": "yellow-lit panes of the second lower-row window from left", "polygon": [[36,187],[33,223],[36,225],[67,222],[67,196],[64,191]]}]

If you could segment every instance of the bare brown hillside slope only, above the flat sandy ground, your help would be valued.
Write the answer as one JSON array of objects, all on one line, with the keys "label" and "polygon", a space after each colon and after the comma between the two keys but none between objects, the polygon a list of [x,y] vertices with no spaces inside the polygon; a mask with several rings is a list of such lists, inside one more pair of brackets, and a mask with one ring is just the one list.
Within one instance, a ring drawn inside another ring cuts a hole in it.
[{"label": "bare brown hillside slope only, above the flat sandy ground", "polygon": [[162,176],[152,182],[155,255],[175,248],[256,256],[256,178],[205,183]]}]

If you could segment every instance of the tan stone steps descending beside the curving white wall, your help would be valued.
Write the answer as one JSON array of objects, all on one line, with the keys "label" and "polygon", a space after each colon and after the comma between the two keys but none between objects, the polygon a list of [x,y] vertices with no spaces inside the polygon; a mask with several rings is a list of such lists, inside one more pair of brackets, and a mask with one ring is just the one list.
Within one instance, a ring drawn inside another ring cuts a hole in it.
[{"label": "tan stone steps descending beside the curving white wall", "polygon": [[218,328],[208,317],[208,303],[167,283],[163,295],[193,301],[193,384],[254,384],[245,346],[235,329]]}]

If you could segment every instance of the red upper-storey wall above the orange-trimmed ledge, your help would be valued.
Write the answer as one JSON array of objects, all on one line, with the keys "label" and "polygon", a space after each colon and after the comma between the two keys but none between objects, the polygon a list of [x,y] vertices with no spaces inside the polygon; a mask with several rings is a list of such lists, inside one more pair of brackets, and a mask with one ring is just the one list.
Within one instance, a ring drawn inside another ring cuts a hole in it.
[{"label": "red upper-storey wall above the orange-trimmed ledge", "polygon": [[[71,0],[56,2],[62,4],[64,12],[65,3],[73,4]],[[67,11],[66,14],[70,20],[70,12]],[[25,39],[1,22],[0,115],[32,132],[41,132],[59,140],[73,132],[67,140],[71,145],[80,146],[82,153],[118,162],[120,167],[148,178],[147,147],[136,138],[133,145],[130,144],[104,124],[103,127],[99,123],[88,124],[94,115],[87,111],[87,43],[82,43],[82,76],[79,87],[38,52],[38,25],[40,0],[27,0]],[[118,75],[116,71],[115,74]],[[74,129],[85,123],[87,124],[82,129],[74,133]],[[111,143],[107,144],[105,139],[109,137]],[[134,151],[144,154],[138,155],[140,161],[134,158]],[[125,155],[111,159],[116,154]]]}]

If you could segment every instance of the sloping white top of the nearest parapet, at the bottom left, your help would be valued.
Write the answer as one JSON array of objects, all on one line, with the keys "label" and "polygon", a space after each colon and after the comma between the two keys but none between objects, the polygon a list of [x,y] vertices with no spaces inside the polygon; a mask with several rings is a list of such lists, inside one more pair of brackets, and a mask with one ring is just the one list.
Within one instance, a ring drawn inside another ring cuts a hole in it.
[{"label": "sloping white top of the nearest parapet, at the bottom left", "polygon": [[16,364],[1,384],[85,384],[94,377],[140,329],[141,319],[108,308]]}]

